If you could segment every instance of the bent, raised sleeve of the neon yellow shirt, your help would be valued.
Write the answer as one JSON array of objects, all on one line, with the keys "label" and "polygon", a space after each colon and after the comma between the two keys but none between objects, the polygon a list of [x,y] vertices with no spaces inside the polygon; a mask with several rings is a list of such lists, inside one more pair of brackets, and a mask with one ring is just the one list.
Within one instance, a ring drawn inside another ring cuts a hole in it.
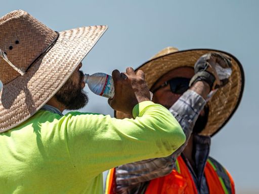
[{"label": "bent, raised sleeve of the neon yellow shirt", "polygon": [[62,121],[70,158],[84,177],[118,165],[165,157],[184,142],[184,132],[168,110],[151,101],[134,107],[135,119],[70,112]]}]

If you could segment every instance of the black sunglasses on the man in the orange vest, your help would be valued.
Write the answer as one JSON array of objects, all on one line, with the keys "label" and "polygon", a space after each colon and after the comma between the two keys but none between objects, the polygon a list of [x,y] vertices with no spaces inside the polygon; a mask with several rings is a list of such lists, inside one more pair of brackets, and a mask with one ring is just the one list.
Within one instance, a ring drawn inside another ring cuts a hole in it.
[{"label": "black sunglasses on the man in the orange vest", "polygon": [[155,93],[158,89],[165,87],[166,85],[170,85],[170,90],[172,93],[177,93],[177,94],[183,94],[187,89],[189,89],[189,82],[191,79],[185,78],[185,77],[176,77],[172,78],[164,84],[160,85],[156,89],[153,90],[153,93]]}]

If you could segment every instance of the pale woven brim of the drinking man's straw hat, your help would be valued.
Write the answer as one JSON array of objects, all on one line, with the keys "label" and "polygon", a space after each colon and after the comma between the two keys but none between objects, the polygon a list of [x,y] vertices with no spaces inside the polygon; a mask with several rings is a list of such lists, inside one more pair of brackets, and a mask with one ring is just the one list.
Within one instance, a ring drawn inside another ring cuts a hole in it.
[{"label": "pale woven brim of the drinking man's straw hat", "polygon": [[62,31],[51,49],[0,92],[0,132],[21,124],[64,85],[108,26]]}]

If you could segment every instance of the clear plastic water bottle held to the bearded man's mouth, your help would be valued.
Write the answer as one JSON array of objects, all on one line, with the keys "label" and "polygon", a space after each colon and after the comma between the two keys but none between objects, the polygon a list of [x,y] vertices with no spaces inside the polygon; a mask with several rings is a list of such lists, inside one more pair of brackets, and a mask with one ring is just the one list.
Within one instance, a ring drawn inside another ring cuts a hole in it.
[{"label": "clear plastic water bottle held to the bearded man's mouth", "polygon": [[84,74],[84,82],[88,84],[91,91],[106,98],[113,98],[114,84],[112,76],[106,73]]}]

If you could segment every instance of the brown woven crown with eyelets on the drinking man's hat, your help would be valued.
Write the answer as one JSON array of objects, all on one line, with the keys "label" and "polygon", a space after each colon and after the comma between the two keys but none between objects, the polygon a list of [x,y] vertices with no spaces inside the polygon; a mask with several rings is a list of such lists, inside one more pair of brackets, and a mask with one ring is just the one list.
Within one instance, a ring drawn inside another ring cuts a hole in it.
[{"label": "brown woven crown with eyelets on the drinking man's hat", "polygon": [[57,37],[57,33],[23,10],[0,18],[0,49],[12,67],[0,57],[0,80],[6,84],[26,72],[32,62]]}]

